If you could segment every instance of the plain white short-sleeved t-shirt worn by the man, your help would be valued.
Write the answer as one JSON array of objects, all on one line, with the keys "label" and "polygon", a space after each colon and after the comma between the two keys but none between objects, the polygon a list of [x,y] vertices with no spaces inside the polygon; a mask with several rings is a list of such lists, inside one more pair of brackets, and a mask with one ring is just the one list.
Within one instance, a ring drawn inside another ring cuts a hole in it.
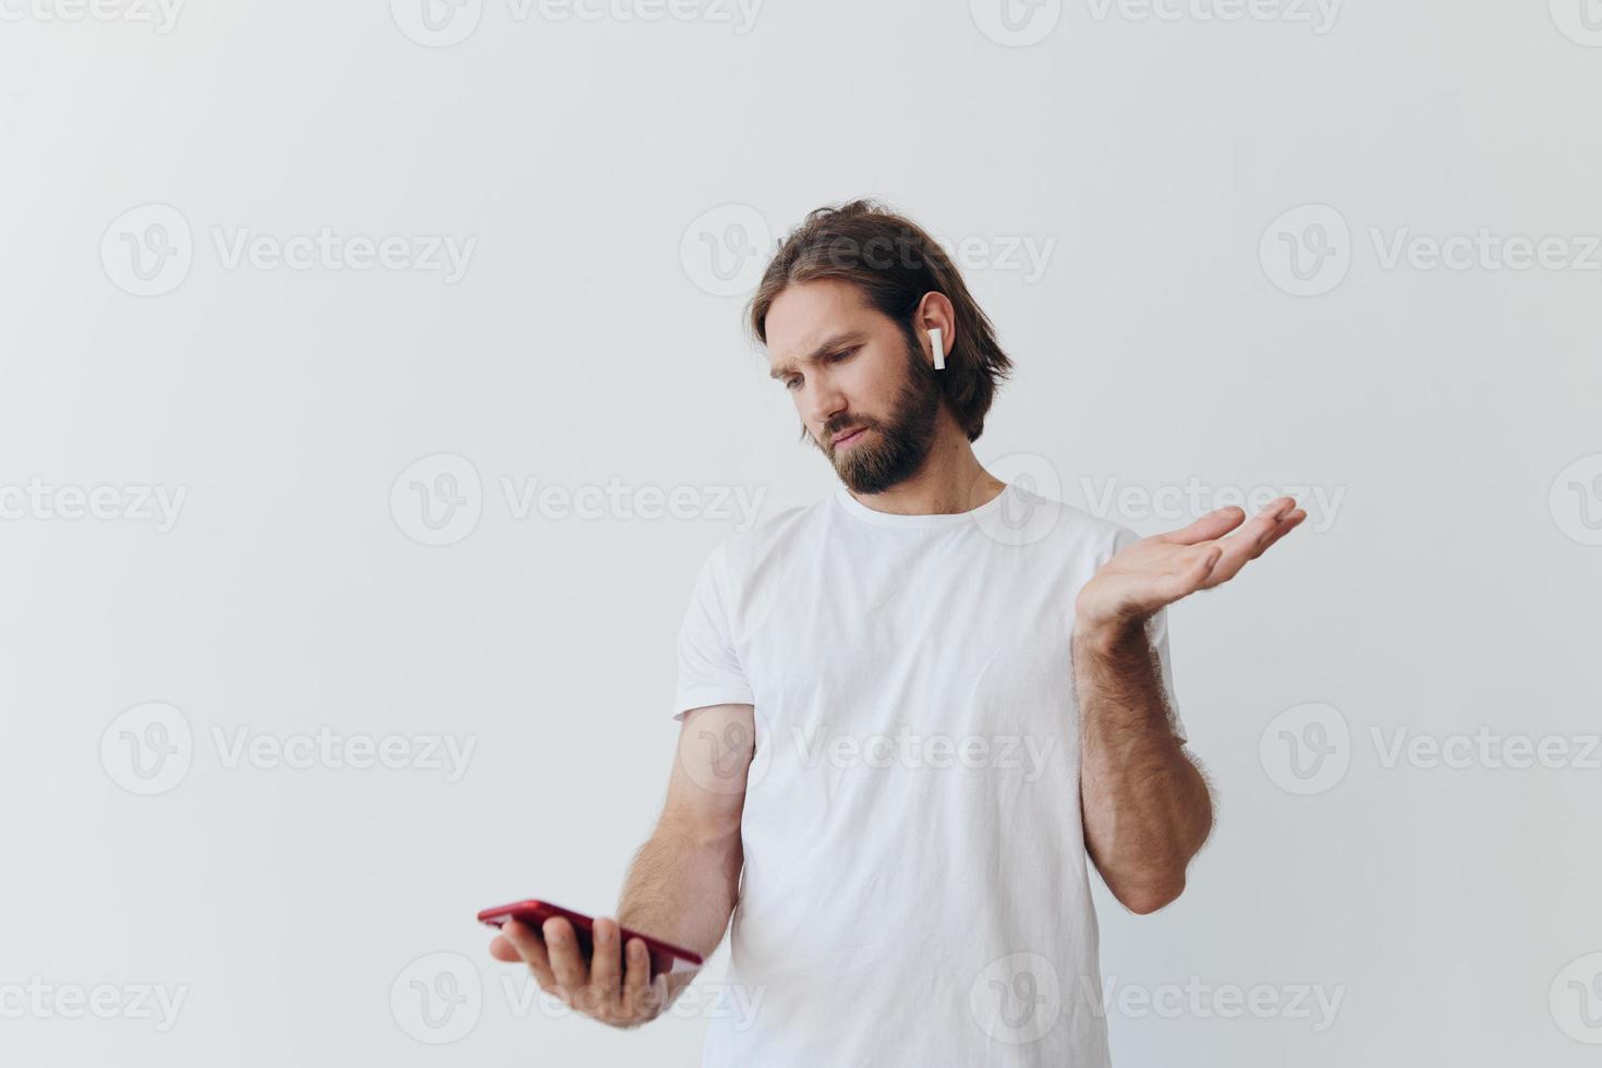
[{"label": "plain white short-sleeved t-shirt worn by the man", "polygon": [[705,1065],[1107,1065],[1070,637],[1136,536],[1019,485],[952,516],[839,488],[706,557],[674,719],[755,705],[756,751]]}]

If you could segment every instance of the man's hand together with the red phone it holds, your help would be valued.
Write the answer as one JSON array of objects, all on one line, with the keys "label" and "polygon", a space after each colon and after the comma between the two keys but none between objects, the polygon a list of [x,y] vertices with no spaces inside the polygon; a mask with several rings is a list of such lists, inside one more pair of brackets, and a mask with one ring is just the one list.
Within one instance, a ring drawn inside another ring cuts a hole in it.
[{"label": "man's hand together with the red phone it holds", "polygon": [[522,961],[540,990],[612,1026],[639,1026],[666,1009],[670,972],[694,972],[697,953],[620,927],[607,916],[548,901],[487,908],[479,921],[500,927],[490,942],[498,961]]}]

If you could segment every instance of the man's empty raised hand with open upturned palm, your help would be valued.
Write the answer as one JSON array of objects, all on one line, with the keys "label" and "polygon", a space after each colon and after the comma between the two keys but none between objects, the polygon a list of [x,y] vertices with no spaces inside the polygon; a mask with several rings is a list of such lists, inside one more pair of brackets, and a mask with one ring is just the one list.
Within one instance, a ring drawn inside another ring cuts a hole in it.
[{"label": "man's empty raised hand with open upturned palm", "polygon": [[1221,508],[1184,530],[1142,538],[1123,549],[1080,589],[1073,629],[1085,636],[1117,636],[1198,589],[1227,583],[1307,519],[1307,512],[1296,508],[1294,498],[1282,496],[1242,525],[1245,519],[1238,508]]}]

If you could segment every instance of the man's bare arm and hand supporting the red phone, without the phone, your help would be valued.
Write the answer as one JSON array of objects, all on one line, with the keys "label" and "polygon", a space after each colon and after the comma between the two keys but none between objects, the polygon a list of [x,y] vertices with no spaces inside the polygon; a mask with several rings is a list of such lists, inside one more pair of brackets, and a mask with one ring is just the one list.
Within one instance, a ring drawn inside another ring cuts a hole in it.
[{"label": "man's bare arm and hand supporting the red phone, without the phone", "polygon": [[540,935],[508,922],[490,953],[527,962],[543,991],[602,1023],[628,1028],[660,1015],[695,974],[652,980],[644,943],[620,946],[618,924],[702,956],[723,942],[740,885],[740,813],[755,738],[750,705],[711,705],[684,716],[668,801],[623,881],[617,919],[596,917],[591,961],[559,917],[548,919]]}]

